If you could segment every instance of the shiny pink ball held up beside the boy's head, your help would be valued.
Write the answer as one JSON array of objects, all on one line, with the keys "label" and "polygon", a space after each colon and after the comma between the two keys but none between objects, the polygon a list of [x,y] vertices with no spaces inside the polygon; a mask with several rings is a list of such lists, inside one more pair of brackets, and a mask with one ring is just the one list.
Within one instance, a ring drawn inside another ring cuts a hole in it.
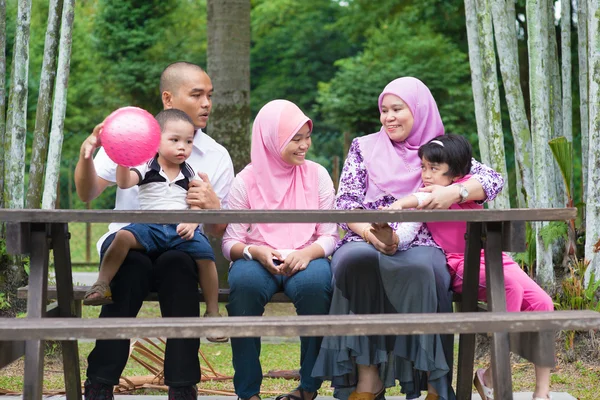
[{"label": "shiny pink ball held up beside the boy's head", "polygon": [[146,110],[119,108],[106,117],[100,141],[111,160],[125,167],[134,167],[156,155],[160,144],[160,125]]}]

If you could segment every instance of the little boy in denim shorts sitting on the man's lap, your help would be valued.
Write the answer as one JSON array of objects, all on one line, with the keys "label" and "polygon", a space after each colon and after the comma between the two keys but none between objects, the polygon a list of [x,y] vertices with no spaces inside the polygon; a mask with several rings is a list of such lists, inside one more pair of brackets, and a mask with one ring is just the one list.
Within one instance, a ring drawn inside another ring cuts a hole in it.
[{"label": "little boy in denim shorts sitting on the man's lap", "polygon": [[[117,166],[116,181],[121,189],[139,185],[142,210],[188,209],[186,195],[195,172],[186,162],[192,152],[194,124],[177,109],[163,110],[156,116],[161,128],[158,154],[135,168]],[[192,207],[196,209],[196,207]],[[112,303],[110,282],[119,270],[129,250],[145,250],[148,254],[177,249],[188,253],[198,265],[200,287],[206,301],[204,316],[218,317],[219,282],[214,255],[206,236],[197,223],[130,224],[116,233],[100,264],[98,280],[85,294],[83,304]],[[227,341],[226,338],[208,338]]]}]

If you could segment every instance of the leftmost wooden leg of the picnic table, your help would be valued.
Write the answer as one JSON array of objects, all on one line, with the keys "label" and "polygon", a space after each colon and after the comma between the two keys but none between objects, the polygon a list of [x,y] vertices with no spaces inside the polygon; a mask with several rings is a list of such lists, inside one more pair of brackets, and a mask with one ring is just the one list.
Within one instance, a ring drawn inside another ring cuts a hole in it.
[{"label": "leftmost wooden leg of the picnic table", "polygon": [[[32,224],[31,229],[27,318],[42,318],[46,311],[48,287],[48,239],[44,224]],[[41,400],[43,376],[44,341],[28,340],[25,343],[24,399]]]}]

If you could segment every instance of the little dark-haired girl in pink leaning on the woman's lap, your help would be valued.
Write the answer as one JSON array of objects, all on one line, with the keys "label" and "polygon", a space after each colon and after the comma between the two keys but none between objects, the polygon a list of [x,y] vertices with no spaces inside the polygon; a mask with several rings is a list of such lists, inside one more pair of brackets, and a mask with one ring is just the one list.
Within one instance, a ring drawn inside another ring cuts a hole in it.
[{"label": "little dark-haired girl in pink leaning on the woman's lap", "polygon": [[[468,196],[465,193],[463,182],[471,176],[471,145],[462,136],[443,135],[429,141],[419,148],[421,158],[421,177],[424,186],[456,186],[457,194],[462,199]],[[390,208],[406,209],[418,207],[429,193],[413,193],[392,205]],[[481,209],[481,204],[473,201],[461,201],[453,204],[450,209]],[[446,253],[450,276],[452,277],[452,290],[462,292],[463,274],[465,264],[465,222],[428,222],[427,227],[435,242]],[[502,253],[504,268],[504,281],[506,287],[507,311],[552,311],[552,299],[539,287],[507,254]],[[481,251],[481,265],[479,272],[479,292],[477,298],[486,301],[485,256]],[[535,392],[533,400],[550,398],[550,368],[552,365],[535,365]],[[475,388],[483,400],[493,399],[493,382],[491,367],[487,370],[479,369],[475,374]]]}]

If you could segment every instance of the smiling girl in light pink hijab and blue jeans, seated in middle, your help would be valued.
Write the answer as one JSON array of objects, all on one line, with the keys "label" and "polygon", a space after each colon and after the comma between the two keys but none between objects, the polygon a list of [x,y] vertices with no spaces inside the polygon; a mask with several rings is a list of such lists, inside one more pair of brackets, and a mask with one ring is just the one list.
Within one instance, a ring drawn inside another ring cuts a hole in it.
[{"label": "smiling girl in light pink hijab and blue jeans, seated in middle", "polygon": [[[234,210],[333,209],[329,173],[306,160],[312,121],[294,103],[274,100],[252,127],[251,164],[240,172],[228,195]],[[279,292],[292,299],[298,315],[329,312],[329,257],[339,240],[336,224],[229,224],[223,254],[229,269],[230,316],[262,315]],[[311,376],[320,337],[303,337],[300,385],[278,399],[311,400],[322,380]],[[233,384],[241,399],[259,399],[262,381],[260,338],[232,338]]]}]

